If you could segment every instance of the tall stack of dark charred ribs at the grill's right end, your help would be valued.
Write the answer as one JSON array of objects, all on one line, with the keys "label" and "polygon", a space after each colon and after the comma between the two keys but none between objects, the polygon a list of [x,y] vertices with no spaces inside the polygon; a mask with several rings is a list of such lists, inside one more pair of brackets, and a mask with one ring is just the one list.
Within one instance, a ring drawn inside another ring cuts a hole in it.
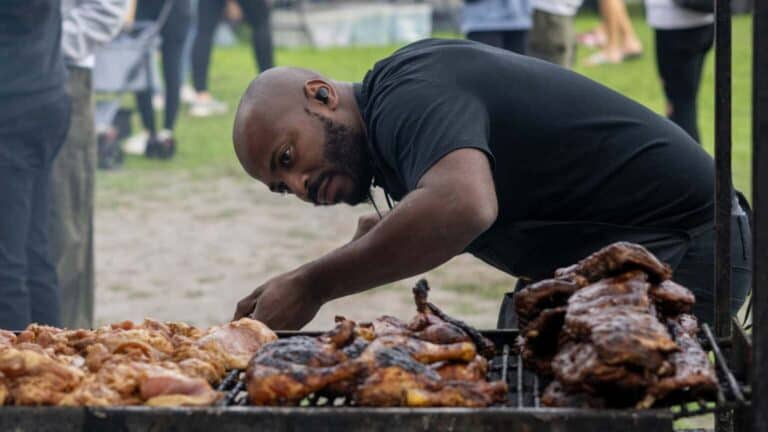
[{"label": "tall stack of dark charred ribs at the grill's right end", "polygon": [[614,243],[515,295],[525,364],[547,406],[648,408],[717,391],[695,298],[642,246]]}]

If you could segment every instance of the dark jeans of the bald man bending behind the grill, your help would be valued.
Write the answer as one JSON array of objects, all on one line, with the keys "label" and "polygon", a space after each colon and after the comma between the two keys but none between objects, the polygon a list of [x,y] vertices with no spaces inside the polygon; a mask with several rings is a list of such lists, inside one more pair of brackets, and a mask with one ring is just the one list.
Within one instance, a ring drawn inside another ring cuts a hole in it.
[{"label": "dark jeans of the bald man bending behind the grill", "polygon": [[[752,284],[752,232],[746,214],[731,217],[731,314],[736,315],[744,304]],[[672,279],[690,289],[696,295],[692,313],[710,325],[715,316],[715,230],[708,229],[696,235],[682,257],[679,245],[670,242],[669,247],[653,250],[662,261],[673,263]],[[515,291],[527,282],[519,280]],[[513,293],[504,296],[499,311],[499,328],[517,328],[517,314],[514,310]]]}]

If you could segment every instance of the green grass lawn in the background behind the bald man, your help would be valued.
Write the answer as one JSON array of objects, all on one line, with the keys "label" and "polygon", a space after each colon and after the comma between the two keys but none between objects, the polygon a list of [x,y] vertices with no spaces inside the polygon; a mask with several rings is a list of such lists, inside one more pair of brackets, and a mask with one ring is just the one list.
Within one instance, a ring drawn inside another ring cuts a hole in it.
[{"label": "green grass lawn in the background behind the bald man", "polygon": [[[653,33],[645,24],[640,10],[633,10],[635,28],[645,46],[645,55],[621,65],[576,70],[657,112],[663,112],[664,100],[656,74]],[[597,22],[591,14],[579,16],[577,29],[587,30]],[[750,191],[750,120],[751,120],[751,17],[739,16],[733,23],[733,171],[735,185]],[[279,49],[278,65],[315,69],[339,80],[359,81],[376,62],[395,50],[396,46],[359,47],[318,50],[312,48]],[[579,57],[587,50],[580,48]],[[187,173],[194,178],[244,175],[232,150],[231,127],[237,101],[255,74],[250,47],[240,44],[216,49],[211,70],[211,90],[230,106],[229,114],[212,118],[193,118],[182,109],[177,125],[180,150],[172,161],[146,160],[129,156],[122,170],[100,172],[100,195],[110,192],[143,189],[149,180],[145,174],[163,171]],[[135,116],[138,117],[138,116]],[[714,55],[708,57],[699,97],[699,126],[705,147],[711,152],[714,141]],[[136,122],[138,127],[138,122]],[[685,161],[680,161],[681,169]],[[154,175],[151,177],[155,177]]]}]

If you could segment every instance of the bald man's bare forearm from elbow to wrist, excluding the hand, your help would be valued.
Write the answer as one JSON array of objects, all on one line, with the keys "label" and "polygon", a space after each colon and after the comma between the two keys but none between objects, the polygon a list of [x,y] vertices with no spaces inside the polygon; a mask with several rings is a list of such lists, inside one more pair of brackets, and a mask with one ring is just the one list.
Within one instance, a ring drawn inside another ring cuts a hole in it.
[{"label": "bald man's bare forearm from elbow to wrist, excluding the hand", "polygon": [[370,232],[301,267],[323,302],[431,270],[462,253],[496,220],[487,156],[456,150],[438,161]]}]

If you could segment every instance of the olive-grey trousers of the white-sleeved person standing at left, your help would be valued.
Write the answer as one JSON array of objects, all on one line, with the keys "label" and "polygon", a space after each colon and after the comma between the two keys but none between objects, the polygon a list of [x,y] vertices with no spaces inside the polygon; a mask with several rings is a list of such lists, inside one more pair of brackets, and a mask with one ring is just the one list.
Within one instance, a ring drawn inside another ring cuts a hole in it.
[{"label": "olive-grey trousers of the white-sleeved person standing at left", "polygon": [[91,70],[69,68],[72,118],[53,162],[49,233],[51,258],[59,276],[61,322],[68,328],[93,326],[93,186],[96,133]]}]

